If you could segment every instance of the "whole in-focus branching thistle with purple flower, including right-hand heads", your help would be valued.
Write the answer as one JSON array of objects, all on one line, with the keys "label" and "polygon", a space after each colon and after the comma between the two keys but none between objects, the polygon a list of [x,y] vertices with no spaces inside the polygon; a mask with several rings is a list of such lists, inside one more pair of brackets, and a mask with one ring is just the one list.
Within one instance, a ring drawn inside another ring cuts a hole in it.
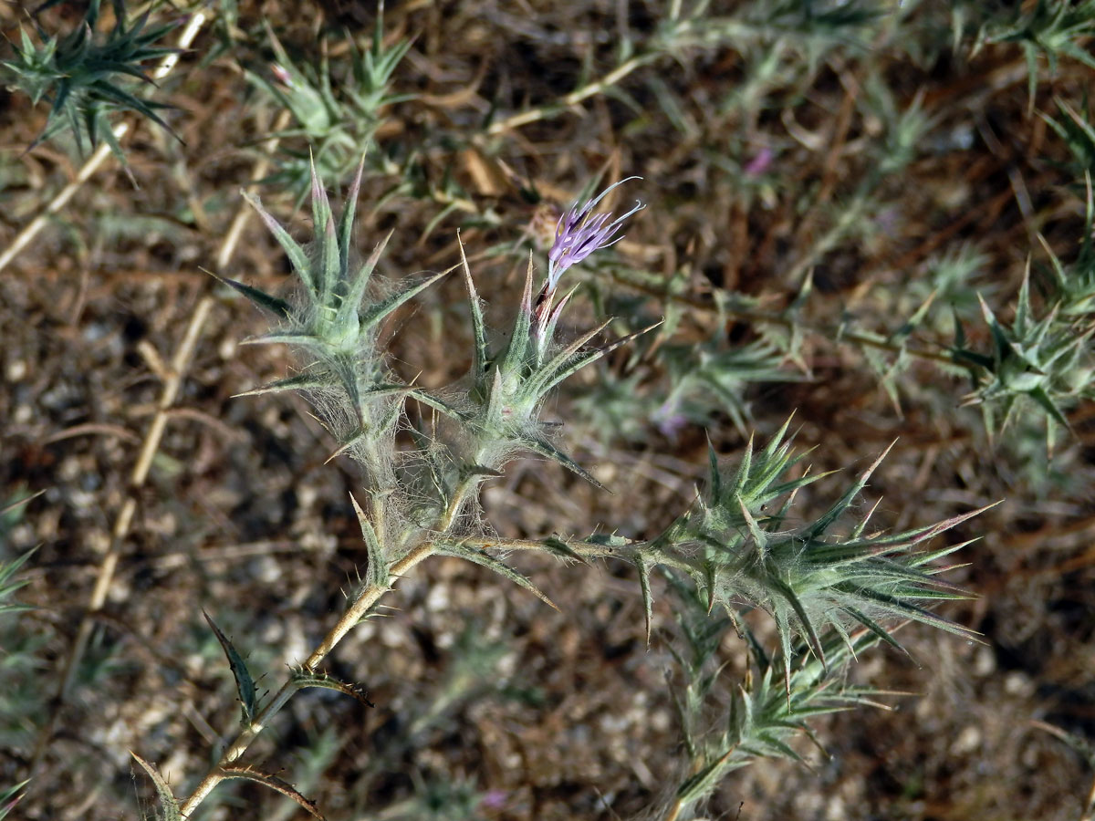
[{"label": "whole in-focus branching thistle with purple flower, including right-hand heads", "polygon": [[[325,673],[321,664],[343,637],[374,613],[395,580],[430,555],[452,555],[486,566],[549,604],[539,588],[496,554],[534,550],[566,558],[627,560],[638,570],[648,638],[654,606],[650,577],[658,566],[691,580],[702,597],[704,615],[717,605],[731,624],[740,625],[742,609],[760,608],[770,614],[780,636],[782,686],[773,672],[780,666],[758,656],[757,683],[733,703],[728,729],[718,741],[727,751],[713,756],[708,751],[714,748],[705,743],[701,753],[692,740],[698,770],[678,790],[676,806],[666,810],[666,818],[671,819],[682,818],[682,808],[696,806],[725,772],[749,758],[787,754],[784,739],[800,729],[807,716],[864,703],[865,694],[841,690],[826,677],[871,641],[899,646],[887,620],[913,620],[968,635],[925,606],[961,595],[937,578],[945,568],[935,564],[961,545],[918,548],[979,511],[889,535],[865,532],[868,512],[845,533],[834,535],[838,521],[877,466],[875,462],[826,513],[789,527],[796,492],[820,476],[799,470],[803,455],[791,450],[787,424],[763,449],[754,452],[750,444],[735,472],[724,471],[712,449],[706,490],[653,540],[630,542],[603,535],[484,540],[479,489],[484,481],[503,475],[507,463],[520,453],[554,460],[597,484],[562,449],[557,424],[544,418],[544,400],[563,380],[635,335],[590,346],[604,328],[601,325],[573,340],[561,340],[560,319],[574,289],[564,293],[560,285],[569,268],[618,241],[624,220],[643,205],[637,203],[619,217],[595,212],[604,196],[626,182],[621,181],[566,211],[548,252],[543,282],[539,290],[533,287],[530,258],[509,337],[497,348],[487,342],[483,307],[461,246],[460,268],[471,307],[471,367],[458,384],[428,391],[399,379],[378,334],[387,317],[443,274],[411,285],[374,288],[373,274],[385,241],[364,264],[351,264],[361,173],[359,164],[349,200],[336,220],[313,167],[316,234],[309,250],[252,200],[300,280],[295,296],[285,299],[237,280],[222,281],[277,321],[274,333],[255,342],[289,344],[303,360],[298,375],[249,393],[304,392],[338,442],[336,452],[350,455],[365,469],[367,504],[362,507],[353,497],[351,502],[368,564],[338,623],[268,697],[257,693],[244,656],[207,616],[237,680],[242,729],[182,802],[153,764],[136,758],[152,778],[164,818],[189,816],[229,778],[263,784],[315,814],[314,803],[291,786],[246,763],[247,748],[306,687],[332,689],[367,701],[358,685]],[[416,421],[407,413],[408,401],[436,410],[435,420]],[[400,427],[413,433],[415,444],[410,450],[396,448]],[[777,500],[782,500],[779,507]],[[689,732],[685,727],[687,738]]]}]

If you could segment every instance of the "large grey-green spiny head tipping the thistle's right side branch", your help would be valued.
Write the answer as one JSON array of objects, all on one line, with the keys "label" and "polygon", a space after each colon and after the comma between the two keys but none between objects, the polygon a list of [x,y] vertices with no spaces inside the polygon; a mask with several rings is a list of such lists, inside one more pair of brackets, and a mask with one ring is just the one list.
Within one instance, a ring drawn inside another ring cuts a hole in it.
[{"label": "large grey-green spiny head tipping the thistle's right side branch", "polygon": [[[834,632],[846,637],[850,625],[895,647],[899,645],[880,620],[911,618],[966,635],[919,603],[961,598],[934,578],[940,568],[933,563],[963,545],[926,553],[914,548],[981,511],[901,533],[865,534],[872,508],[846,534],[833,534],[884,453],[822,516],[787,528],[796,493],[825,475],[788,475],[805,458],[785,439],[788,424],[761,450],[754,452],[750,441],[733,473],[721,469],[711,450],[707,488],[692,509],[648,545],[633,547],[641,576],[647,579],[653,566],[665,564],[683,570],[705,591],[708,611],[717,604],[731,618],[740,605],[770,613],[788,675],[796,637],[825,664],[821,636]],[[648,581],[643,591],[649,616]]]}]

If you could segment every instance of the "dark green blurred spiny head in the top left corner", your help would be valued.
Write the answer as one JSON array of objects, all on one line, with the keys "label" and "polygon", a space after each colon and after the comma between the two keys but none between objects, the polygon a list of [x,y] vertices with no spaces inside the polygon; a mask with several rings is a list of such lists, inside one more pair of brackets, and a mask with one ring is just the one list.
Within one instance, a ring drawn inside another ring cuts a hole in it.
[{"label": "dark green blurred spiny head in the top left corner", "polygon": [[[60,2],[48,0],[35,14]],[[102,139],[125,166],[125,154],[111,123],[111,115],[125,111],[137,112],[174,135],[157,114],[173,106],[137,96],[129,91],[128,80],[154,84],[143,63],[175,50],[154,44],[177,22],[149,26],[149,10],[132,24],[127,24],[125,1],[112,0],[112,5],[114,25],[105,36],[96,32],[102,0],[91,0],[83,21],[64,37],[47,33],[35,18],[39,41],[35,45],[26,30],[20,26],[20,45],[12,46],[14,59],[0,63],[4,69],[2,79],[30,96],[33,104],[37,105],[41,100],[49,103],[46,126],[30,148],[68,129],[81,151],[88,143],[94,149]]]}]

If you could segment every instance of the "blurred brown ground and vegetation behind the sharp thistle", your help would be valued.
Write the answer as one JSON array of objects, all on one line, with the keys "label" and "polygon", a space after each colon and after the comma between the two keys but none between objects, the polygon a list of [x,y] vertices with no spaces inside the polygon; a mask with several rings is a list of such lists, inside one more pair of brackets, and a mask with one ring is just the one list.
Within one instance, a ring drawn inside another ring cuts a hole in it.
[{"label": "blurred brown ground and vegetation behind the sharp thistle", "polygon": [[[353,466],[324,464],[298,398],[233,398],[287,357],[241,346],[264,320],[200,270],[284,285],[240,188],[302,234],[310,150],[335,201],[367,150],[358,244],[394,229],[385,275],[453,265],[459,229],[497,327],[561,210],[643,177],[612,203],[647,204],[626,239],[568,274],[566,321],[664,323],[552,409],[613,494],[522,461],[484,494],[500,534],[656,535],[708,440],[733,462],[792,412],[814,471],[858,473],[897,439],[866,492],[878,527],[1004,500],[959,529],[983,537],[948,578],[978,598],[941,611],[983,644],[902,629],[911,659],[876,649],[850,675],[914,695],[819,720],[829,755],[800,738],[811,768],[734,772],[710,817],[1085,818],[1095,3],[411,0],[381,20],[364,0],[218,0],[130,3],[122,26],[116,7],[48,7],[0,3],[0,250],[18,248],[0,563],[37,548],[0,576],[0,790],[34,772],[13,818],[135,817],[153,791],[129,750],[188,791],[238,709],[201,609],[269,687],[365,562]],[[454,277],[390,331],[429,386],[466,370],[469,335]],[[726,624],[698,638],[687,591],[675,614],[656,579],[647,649],[634,568],[516,564],[562,614],[431,559],[331,662],[376,708],[310,692],[254,761],[328,819],[635,818],[664,798],[692,670],[670,648],[728,666],[718,716],[745,643]],[[242,783],[198,813],[306,816]]]}]

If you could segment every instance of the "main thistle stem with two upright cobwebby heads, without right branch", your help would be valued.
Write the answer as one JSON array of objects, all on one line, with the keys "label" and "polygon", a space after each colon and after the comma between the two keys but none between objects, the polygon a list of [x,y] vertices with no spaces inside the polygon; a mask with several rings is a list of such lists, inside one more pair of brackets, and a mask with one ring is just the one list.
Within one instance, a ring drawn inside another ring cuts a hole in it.
[{"label": "main thistle stem with two upright cobwebby heads, without right branch", "polygon": [[[256,694],[246,663],[210,620],[237,679],[244,729],[217,767],[181,807],[155,767],[137,759],[155,783],[169,811],[189,813],[226,778],[246,778],[285,791],[278,779],[237,762],[269,718],[298,691],[319,686],[359,695],[354,685],[319,672],[319,664],[371,612],[390,589],[393,577],[430,554],[457,555],[486,565],[546,601],[546,597],[523,576],[484,551],[470,546],[454,528],[465,508],[474,504],[480,483],[487,476],[499,475],[499,469],[519,450],[548,455],[591,478],[549,441],[545,429],[550,426],[540,419],[540,410],[552,388],[603,355],[604,348],[583,347],[600,328],[575,343],[556,344],[556,326],[567,297],[554,303],[556,277],[544,284],[533,307],[531,261],[509,343],[494,357],[487,349],[482,308],[471,270],[463,261],[472,304],[475,352],[459,401],[442,400],[394,381],[388,357],[377,346],[379,326],[401,304],[443,274],[396,290],[379,301],[368,299],[372,296],[369,285],[384,243],[381,242],[362,265],[351,265],[351,231],[362,166],[364,159],[337,226],[313,169],[312,216],[318,236],[311,252],[306,252],[257,200],[253,200],[301,280],[301,293],[296,303],[235,280],[226,278],[223,281],[285,323],[283,328],[255,342],[287,343],[311,360],[298,377],[251,393],[303,391],[313,400],[339,442],[337,452],[350,455],[365,467],[369,504],[362,509],[356,499],[353,502],[368,550],[368,566],[338,624],[265,703]],[[588,216],[590,208],[577,213]],[[556,243],[560,247],[572,247],[578,240],[583,252],[589,254],[612,241],[613,238],[603,233],[590,239],[589,231],[596,230],[590,229],[590,224],[600,228],[603,220],[595,217],[592,223],[587,223],[583,217],[561,223]],[[406,424],[403,402],[411,396],[449,414],[460,426],[460,435],[450,443],[426,443],[420,452],[410,456],[395,453],[395,429]],[[397,466],[402,470],[396,470]]]}]

